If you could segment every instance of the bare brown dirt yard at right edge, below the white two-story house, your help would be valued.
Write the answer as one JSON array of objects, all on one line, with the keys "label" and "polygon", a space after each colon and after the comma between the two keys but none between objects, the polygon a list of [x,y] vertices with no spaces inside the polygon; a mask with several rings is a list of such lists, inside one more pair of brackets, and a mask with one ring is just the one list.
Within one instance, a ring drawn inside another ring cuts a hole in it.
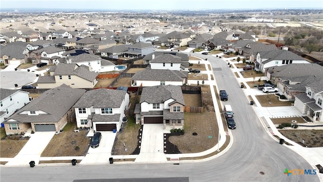
[{"label": "bare brown dirt yard at right edge, below the white two-story house", "polygon": [[303,147],[323,147],[323,130],[280,129],[279,132]]}]

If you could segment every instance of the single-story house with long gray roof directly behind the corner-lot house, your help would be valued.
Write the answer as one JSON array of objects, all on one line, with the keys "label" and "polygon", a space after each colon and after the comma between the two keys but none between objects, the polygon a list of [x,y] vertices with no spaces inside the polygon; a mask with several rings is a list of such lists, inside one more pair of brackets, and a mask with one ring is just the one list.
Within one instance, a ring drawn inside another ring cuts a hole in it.
[{"label": "single-story house with long gray roof directly behind the corner-lot house", "polygon": [[145,69],[135,73],[130,81],[132,86],[183,85],[187,84],[187,71]]}]

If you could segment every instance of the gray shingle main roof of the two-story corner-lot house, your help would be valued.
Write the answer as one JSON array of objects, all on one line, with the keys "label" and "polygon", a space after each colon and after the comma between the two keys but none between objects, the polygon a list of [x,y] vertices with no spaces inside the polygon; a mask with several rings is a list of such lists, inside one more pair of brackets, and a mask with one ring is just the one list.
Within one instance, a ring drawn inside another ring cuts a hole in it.
[{"label": "gray shingle main roof of the two-story corner-lot house", "polygon": [[144,87],[142,89],[139,103],[143,103],[143,102],[147,102],[149,104],[164,103],[169,99],[174,99],[175,102],[185,106],[181,86],[157,85],[157,86]]}]

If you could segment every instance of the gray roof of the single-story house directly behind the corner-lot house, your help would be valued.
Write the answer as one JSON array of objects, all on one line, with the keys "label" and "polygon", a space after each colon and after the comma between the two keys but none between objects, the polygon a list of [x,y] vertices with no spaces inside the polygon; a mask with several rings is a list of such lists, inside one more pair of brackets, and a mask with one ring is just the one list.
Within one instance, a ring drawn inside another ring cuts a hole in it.
[{"label": "gray roof of the single-story house directly behind the corner-lot house", "polygon": [[183,81],[187,77],[187,71],[145,69],[135,73],[131,80]]}]

